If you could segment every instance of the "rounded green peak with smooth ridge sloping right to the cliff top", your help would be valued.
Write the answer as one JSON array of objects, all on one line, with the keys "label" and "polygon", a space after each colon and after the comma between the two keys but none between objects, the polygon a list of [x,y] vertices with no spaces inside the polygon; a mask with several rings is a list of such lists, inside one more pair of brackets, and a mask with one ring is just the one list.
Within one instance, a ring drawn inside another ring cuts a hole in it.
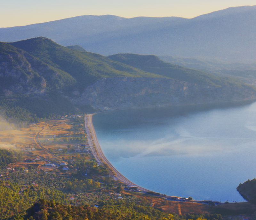
[{"label": "rounded green peak with smooth ridge sloping right to the cliff top", "polygon": [[58,70],[67,72],[76,79],[80,90],[103,77],[159,77],[99,54],[63,47],[45,37],[22,40],[11,45],[27,51]]}]

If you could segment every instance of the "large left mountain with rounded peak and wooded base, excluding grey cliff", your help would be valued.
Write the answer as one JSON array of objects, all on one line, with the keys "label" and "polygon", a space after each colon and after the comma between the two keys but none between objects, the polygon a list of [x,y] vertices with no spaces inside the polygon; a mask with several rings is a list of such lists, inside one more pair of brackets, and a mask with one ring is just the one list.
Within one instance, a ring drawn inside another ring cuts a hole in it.
[{"label": "large left mountain with rounded peak and wooded base, excluding grey cliff", "polygon": [[1,115],[20,123],[91,111],[90,106],[76,108],[71,102],[72,92],[82,92],[103,77],[159,77],[108,57],[71,48],[44,37],[0,42]]}]

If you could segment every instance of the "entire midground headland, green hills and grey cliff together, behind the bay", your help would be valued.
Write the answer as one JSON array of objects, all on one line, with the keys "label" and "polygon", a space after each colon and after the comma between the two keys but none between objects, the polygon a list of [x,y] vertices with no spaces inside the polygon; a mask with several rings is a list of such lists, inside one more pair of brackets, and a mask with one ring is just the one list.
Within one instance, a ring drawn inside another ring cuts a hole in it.
[{"label": "entire midground headland, green hills and grey cliff together, behind the bay", "polygon": [[253,99],[256,90],[160,60],[102,56],[45,37],[0,42],[0,114],[17,120],[75,112]]}]

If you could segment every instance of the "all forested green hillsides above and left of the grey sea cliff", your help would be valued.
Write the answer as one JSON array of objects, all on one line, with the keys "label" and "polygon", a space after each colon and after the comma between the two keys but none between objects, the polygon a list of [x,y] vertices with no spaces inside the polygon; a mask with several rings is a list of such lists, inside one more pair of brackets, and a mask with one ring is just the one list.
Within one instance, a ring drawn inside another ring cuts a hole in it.
[{"label": "all forested green hillsides above and left of the grey sea cliff", "polygon": [[74,105],[74,101],[88,85],[105,77],[166,77],[254,92],[245,84],[172,65],[153,55],[106,57],[79,46],[63,47],[44,37],[0,42],[0,56],[0,114],[19,124],[95,111],[86,103]]}]

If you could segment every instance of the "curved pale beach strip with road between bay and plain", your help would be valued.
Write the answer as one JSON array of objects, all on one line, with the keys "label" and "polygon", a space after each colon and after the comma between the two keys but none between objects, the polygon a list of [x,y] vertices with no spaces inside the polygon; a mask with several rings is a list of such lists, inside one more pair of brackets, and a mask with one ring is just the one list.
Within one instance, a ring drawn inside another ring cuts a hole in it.
[{"label": "curved pale beach strip with road between bay and plain", "polygon": [[[94,114],[87,114],[85,115],[85,120],[84,120],[84,126],[85,126],[85,131],[87,134],[87,140],[88,140],[88,144],[89,146],[92,148],[92,154],[94,156],[94,158],[96,159],[97,163],[102,165],[107,164],[108,167],[110,167],[110,169],[113,172],[113,177],[115,180],[119,180],[121,182],[123,182],[124,184],[126,184],[127,186],[135,186],[138,187],[139,190],[141,190],[142,192],[148,192],[148,189],[145,189],[143,187],[140,187],[136,184],[134,184],[132,181],[128,180],[125,176],[123,176],[120,172],[118,172],[116,170],[116,168],[108,161],[108,159],[105,157],[105,155],[103,154],[100,144],[98,142],[97,136],[96,136],[96,132],[95,129],[93,127],[92,124],[92,116]],[[94,145],[93,145],[94,142]],[[95,147],[95,150],[94,150]]]}]

